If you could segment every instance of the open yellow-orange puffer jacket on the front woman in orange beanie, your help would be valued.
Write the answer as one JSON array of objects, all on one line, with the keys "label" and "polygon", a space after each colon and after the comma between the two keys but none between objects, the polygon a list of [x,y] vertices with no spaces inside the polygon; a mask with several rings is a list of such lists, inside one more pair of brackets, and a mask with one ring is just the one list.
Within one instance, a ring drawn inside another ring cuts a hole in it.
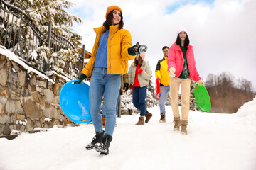
[{"label": "open yellow-orange puffer jacket on the front woman in orange beanie", "polygon": [[[132,36],[128,30],[119,29],[119,24],[110,26],[110,33],[107,42],[107,73],[126,74],[128,71],[128,60],[133,60],[136,55],[129,55],[128,48],[132,47]],[[96,40],[92,49],[92,57],[82,69],[82,74],[87,77],[92,75],[100,36],[106,28],[104,26],[95,28]]]}]

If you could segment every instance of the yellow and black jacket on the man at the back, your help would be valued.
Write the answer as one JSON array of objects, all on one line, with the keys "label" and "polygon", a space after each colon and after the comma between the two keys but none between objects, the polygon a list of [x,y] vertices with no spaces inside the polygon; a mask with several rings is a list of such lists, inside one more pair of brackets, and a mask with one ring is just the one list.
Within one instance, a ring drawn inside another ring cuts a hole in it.
[{"label": "yellow and black jacket on the man at the back", "polygon": [[159,77],[160,86],[170,86],[167,58],[168,57],[164,56],[156,65],[156,78]]}]

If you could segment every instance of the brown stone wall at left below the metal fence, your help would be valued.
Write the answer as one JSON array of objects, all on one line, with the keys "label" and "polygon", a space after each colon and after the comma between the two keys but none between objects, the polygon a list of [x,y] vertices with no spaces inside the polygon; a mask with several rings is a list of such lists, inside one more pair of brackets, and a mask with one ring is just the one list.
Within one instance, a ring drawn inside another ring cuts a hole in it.
[{"label": "brown stone wall at left below the metal fence", "polygon": [[58,74],[40,77],[0,54],[0,136],[34,128],[73,124],[60,108],[59,94],[67,82]]}]

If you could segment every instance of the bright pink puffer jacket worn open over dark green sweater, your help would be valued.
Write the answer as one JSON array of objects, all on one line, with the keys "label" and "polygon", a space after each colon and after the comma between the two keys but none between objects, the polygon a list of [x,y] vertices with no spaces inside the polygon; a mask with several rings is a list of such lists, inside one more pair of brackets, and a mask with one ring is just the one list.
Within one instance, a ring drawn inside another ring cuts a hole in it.
[{"label": "bright pink puffer jacket worn open over dark green sweater", "polygon": [[[198,81],[201,79],[199,77],[198,71],[196,69],[196,62],[195,57],[193,55],[193,46],[188,45],[188,50],[186,54],[187,62],[188,62],[188,69],[189,69],[189,75],[191,79],[194,81]],[[176,77],[179,77],[181,75],[181,72],[183,70],[183,52],[181,51],[181,47],[174,42],[173,45],[171,45],[167,64],[168,64],[168,70],[171,67],[175,68],[175,75]]]}]

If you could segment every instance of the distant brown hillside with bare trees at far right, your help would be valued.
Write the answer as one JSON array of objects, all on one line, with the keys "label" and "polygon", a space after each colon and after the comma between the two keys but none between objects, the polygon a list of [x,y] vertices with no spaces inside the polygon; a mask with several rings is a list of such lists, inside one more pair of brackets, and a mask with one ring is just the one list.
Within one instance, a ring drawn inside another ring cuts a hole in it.
[{"label": "distant brown hillside with bare trees at far right", "polygon": [[245,102],[255,98],[252,82],[247,79],[234,81],[233,74],[209,74],[205,81],[213,113],[236,113]]}]

